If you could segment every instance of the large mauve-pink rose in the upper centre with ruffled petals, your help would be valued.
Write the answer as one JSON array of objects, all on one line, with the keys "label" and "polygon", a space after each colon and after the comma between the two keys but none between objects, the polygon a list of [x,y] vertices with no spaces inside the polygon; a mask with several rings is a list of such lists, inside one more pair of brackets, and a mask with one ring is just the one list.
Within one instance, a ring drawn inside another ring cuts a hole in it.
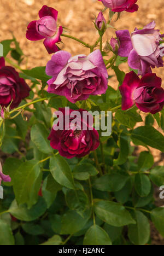
[{"label": "large mauve-pink rose in the upper centre with ruffled petals", "polygon": [[108,73],[101,51],[71,57],[67,51],[58,51],[46,65],[48,92],[65,96],[75,103],[90,95],[104,94],[108,88]]}]

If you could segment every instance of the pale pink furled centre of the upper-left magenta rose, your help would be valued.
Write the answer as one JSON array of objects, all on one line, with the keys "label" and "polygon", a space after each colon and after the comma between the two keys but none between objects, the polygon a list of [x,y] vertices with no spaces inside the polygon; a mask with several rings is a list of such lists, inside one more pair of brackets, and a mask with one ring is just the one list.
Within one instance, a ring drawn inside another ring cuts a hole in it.
[{"label": "pale pink furled centre of the upper-left magenta rose", "polygon": [[51,16],[44,16],[36,23],[37,32],[43,37],[52,37],[56,33],[56,20]]}]

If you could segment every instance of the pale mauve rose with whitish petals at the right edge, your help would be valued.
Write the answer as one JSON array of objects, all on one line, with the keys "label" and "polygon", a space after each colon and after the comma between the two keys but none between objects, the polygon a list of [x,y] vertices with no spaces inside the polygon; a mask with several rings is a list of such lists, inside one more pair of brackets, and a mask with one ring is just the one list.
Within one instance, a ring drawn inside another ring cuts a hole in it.
[{"label": "pale mauve rose with whitish petals at the right edge", "polygon": [[[116,31],[116,36],[120,41],[119,56],[128,57],[128,65],[133,69],[138,69],[138,75],[151,73],[151,68],[163,67],[161,49],[161,37],[159,30],[155,30],[155,21],[143,28],[135,29],[130,33],[128,30]],[[163,45],[162,45],[163,48]]]}]

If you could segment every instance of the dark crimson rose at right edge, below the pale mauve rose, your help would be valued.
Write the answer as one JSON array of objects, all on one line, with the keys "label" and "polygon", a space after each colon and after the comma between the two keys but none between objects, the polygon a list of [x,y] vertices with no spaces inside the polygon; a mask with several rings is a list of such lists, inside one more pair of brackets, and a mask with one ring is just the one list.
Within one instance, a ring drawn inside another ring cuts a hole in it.
[{"label": "dark crimson rose at right edge, below the pale mauve rose", "polygon": [[120,86],[122,95],[122,110],[136,106],[145,113],[155,114],[164,106],[164,90],[162,80],[156,74],[147,73],[141,79],[131,71],[125,75]]}]

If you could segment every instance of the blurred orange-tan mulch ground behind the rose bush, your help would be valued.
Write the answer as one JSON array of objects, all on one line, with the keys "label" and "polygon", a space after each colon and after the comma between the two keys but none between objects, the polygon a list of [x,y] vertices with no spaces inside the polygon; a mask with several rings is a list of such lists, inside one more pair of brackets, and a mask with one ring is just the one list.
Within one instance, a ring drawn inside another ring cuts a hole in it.
[{"label": "blurred orange-tan mulch ground behind the rose bush", "polygon": [[[116,17],[110,24],[118,30],[129,30],[132,32],[135,27],[141,28],[149,22],[155,20],[156,28],[164,33],[164,5],[163,0],[138,0],[139,10],[135,13],[121,13],[121,19],[115,22]],[[94,43],[98,38],[98,32],[95,30],[93,22],[95,15],[103,9],[101,2],[97,0],[0,0],[0,40],[11,39],[12,33],[20,43],[20,47],[26,55],[25,60],[21,63],[22,69],[33,68],[36,66],[45,66],[50,60],[42,41],[31,42],[26,39],[26,28],[30,21],[38,19],[38,11],[42,5],[49,5],[58,10],[57,23],[67,28],[67,34],[78,37],[86,43]],[[106,18],[108,19],[108,12]],[[65,31],[66,33],[66,31]],[[115,36],[115,31],[108,28],[104,36],[103,46],[107,38]],[[69,51],[72,55],[89,54],[89,49],[80,45],[69,38],[62,38],[60,48]],[[127,64],[124,63],[121,69],[129,72]],[[164,69],[154,69],[154,72],[163,80],[164,88]],[[109,71],[112,75],[113,72]],[[117,88],[118,82],[115,77],[109,80],[109,84]],[[139,123],[142,125],[142,123]],[[156,124],[157,127],[157,124]],[[140,150],[145,148],[139,147]],[[155,165],[163,165],[163,154],[159,150],[151,149],[155,157]],[[158,206],[164,205],[164,200],[159,198],[160,191],[156,189],[155,198]],[[164,245],[163,238],[155,230],[151,229],[151,238],[153,245]]]}]

